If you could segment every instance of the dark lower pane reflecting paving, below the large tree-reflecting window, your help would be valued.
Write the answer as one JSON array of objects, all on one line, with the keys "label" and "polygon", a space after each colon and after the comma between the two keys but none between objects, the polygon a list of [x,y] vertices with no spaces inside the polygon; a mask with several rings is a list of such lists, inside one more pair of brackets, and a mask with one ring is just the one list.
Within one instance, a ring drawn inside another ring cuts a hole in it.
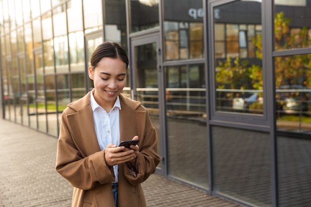
[{"label": "dark lower pane reflecting paving, below the large tree-reflecting window", "polygon": [[214,190],[272,207],[268,133],[212,126]]}]

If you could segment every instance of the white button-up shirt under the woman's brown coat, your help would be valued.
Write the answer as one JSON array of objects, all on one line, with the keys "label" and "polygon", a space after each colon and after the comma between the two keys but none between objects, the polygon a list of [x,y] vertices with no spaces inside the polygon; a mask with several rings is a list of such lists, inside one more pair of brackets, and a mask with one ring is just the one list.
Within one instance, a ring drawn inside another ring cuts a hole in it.
[{"label": "white button-up shirt under the woman's brown coat", "polygon": [[[121,110],[121,104],[119,96],[112,109],[107,113],[98,103],[95,101],[93,92],[91,93],[91,107],[93,110],[93,117],[95,123],[95,131],[98,140],[98,144],[101,150],[104,150],[110,143],[114,143],[117,146],[120,143],[120,117],[119,110]],[[114,175],[116,177],[115,182],[118,182],[118,165],[113,166]]]}]

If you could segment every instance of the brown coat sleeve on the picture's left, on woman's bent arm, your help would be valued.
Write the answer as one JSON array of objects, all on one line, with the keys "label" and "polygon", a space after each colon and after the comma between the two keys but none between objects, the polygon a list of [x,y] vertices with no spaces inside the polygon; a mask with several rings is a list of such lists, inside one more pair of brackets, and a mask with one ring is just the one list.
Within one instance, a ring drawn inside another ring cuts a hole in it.
[{"label": "brown coat sleeve on the picture's left, on woman's bent arm", "polygon": [[60,136],[57,146],[56,170],[71,185],[90,190],[115,180],[113,168],[105,163],[104,150],[85,155],[73,138],[66,110],[62,114]]}]

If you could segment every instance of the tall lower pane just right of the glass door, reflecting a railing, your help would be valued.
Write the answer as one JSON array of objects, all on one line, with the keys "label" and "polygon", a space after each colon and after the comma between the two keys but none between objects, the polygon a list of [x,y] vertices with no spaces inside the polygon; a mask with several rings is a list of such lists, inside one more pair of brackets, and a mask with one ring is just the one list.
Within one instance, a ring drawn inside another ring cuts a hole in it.
[{"label": "tall lower pane just right of the glass door, reflecting a railing", "polygon": [[[170,176],[207,189],[208,151],[206,150],[204,65],[165,67],[164,72],[168,173]],[[196,135],[195,138],[190,138],[193,134]],[[189,147],[189,144],[196,147]],[[187,153],[184,153],[185,151]],[[196,157],[196,162],[193,162],[193,156],[189,154]]]}]

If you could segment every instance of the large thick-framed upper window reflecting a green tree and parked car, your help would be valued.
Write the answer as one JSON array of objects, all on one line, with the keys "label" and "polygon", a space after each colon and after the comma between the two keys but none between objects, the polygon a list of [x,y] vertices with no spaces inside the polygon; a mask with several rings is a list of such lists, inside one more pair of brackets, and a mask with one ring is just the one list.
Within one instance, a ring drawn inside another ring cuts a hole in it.
[{"label": "large thick-framed upper window reflecting a green tree and parked car", "polygon": [[238,0],[214,12],[216,111],[262,115],[261,3]]}]

